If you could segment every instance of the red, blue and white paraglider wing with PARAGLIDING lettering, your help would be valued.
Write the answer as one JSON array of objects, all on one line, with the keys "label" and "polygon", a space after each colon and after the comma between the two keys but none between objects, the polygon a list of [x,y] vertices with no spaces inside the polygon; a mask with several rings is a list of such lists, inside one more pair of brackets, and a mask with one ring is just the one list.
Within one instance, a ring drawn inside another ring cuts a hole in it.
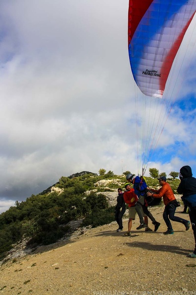
[{"label": "red, blue and white paraglider wing with PARAGLIDING lettering", "polygon": [[129,0],[129,59],[134,79],[147,96],[162,97],[195,12],[196,0]]}]

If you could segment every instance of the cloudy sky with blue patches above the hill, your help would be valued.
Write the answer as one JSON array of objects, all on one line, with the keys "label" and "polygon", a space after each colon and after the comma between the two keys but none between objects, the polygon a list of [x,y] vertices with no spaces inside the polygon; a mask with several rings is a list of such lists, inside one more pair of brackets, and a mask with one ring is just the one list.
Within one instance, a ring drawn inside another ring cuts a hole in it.
[{"label": "cloudy sky with blue patches above the hill", "polygon": [[[0,1],[0,213],[61,176],[137,173],[140,92],[127,15],[128,0]],[[190,66],[180,63],[178,79],[171,77],[174,105],[148,164],[167,175],[188,164],[196,176],[196,45],[189,40],[179,61],[186,52]]]}]

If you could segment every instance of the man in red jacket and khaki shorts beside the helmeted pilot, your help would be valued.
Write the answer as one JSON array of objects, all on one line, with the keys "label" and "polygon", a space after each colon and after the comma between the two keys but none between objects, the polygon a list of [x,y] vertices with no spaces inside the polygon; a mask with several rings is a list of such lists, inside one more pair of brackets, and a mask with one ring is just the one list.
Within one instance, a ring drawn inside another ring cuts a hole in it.
[{"label": "man in red jacket and khaki shorts beside the helmeted pilot", "polygon": [[[125,184],[126,191],[124,192],[124,201],[129,206],[129,221],[128,221],[128,231],[125,232],[125,235],[131,235],[132,221],[135,220],[136,217],[136,202],[139,200],[138,196],[134,192],[134,188],[131,188],[129,183]],[[143,217],[145,219],[145,223],[148,225],[147,215],[143,213]],[[145,228],[145,231],[152,231],[148,226]]]}]

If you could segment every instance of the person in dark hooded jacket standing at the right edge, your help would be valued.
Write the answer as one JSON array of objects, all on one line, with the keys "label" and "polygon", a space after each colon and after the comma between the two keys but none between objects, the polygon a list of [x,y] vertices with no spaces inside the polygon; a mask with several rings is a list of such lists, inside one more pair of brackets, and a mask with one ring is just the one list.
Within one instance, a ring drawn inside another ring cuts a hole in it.
[{"label": "person in dark hooded jacket standing at the right edge", "polygon": [[[196,243],[196,178],[193,177],[192,169],[188,165],[180,169],[181,175],[182,180],[177,188],[177,192],[183,194],[183,199],[189,206],[189,217]],[[188,257],[196,258],[196,244],[194,252],[189,254]]]}]

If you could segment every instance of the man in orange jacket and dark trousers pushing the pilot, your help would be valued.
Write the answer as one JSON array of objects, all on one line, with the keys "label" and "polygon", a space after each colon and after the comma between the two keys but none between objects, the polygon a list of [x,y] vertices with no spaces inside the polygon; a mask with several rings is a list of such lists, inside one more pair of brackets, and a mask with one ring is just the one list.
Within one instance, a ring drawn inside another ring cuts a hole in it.
[{"label": "man in orange jacket and dark trousers pushing the pilot", "polygon": [[152,192],[155,192],[156,194],[147,192],[147,196],[154,198],[163,197],[163,202],[165,205],[163,219],[167,225],[167,231],[165,231],[164,234],[174,233],[170,220],[183,223],[185,225],[186,230],[188,230],[190,228],[190,221],[175,216],[177,201],[171,189],[171,186],[169,185],[169,183],[166,182],[166,177],[161,176],[158,178],[158,181],[161,185],[161,188],[159,190],[150,189]]}]

